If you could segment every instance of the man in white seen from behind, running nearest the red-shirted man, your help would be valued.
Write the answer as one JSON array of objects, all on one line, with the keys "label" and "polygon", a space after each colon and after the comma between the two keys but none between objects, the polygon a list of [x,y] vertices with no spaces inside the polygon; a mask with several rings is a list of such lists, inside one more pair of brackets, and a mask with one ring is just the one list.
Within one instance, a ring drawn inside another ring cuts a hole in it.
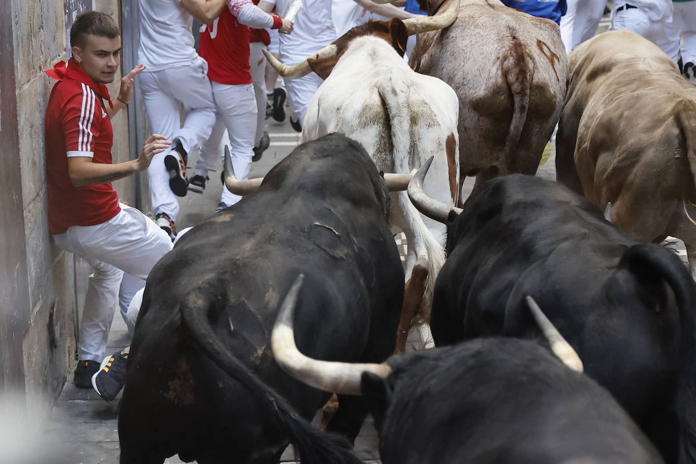
[{"label": "man in white seen from behind, running nearest the red-shirted man", "polygon": [[[188,191],[188,154],[207,141],[215,123],[215,104],[207,63],[194,48],[193,18],[210,24],[225,0],[140,0],[139,79],[150,128],[173,141],[172,150],[152,159],[150,195],[157,225],[173,239],[178,196]],[[186,120],[180,127],[179,106]]]}]

